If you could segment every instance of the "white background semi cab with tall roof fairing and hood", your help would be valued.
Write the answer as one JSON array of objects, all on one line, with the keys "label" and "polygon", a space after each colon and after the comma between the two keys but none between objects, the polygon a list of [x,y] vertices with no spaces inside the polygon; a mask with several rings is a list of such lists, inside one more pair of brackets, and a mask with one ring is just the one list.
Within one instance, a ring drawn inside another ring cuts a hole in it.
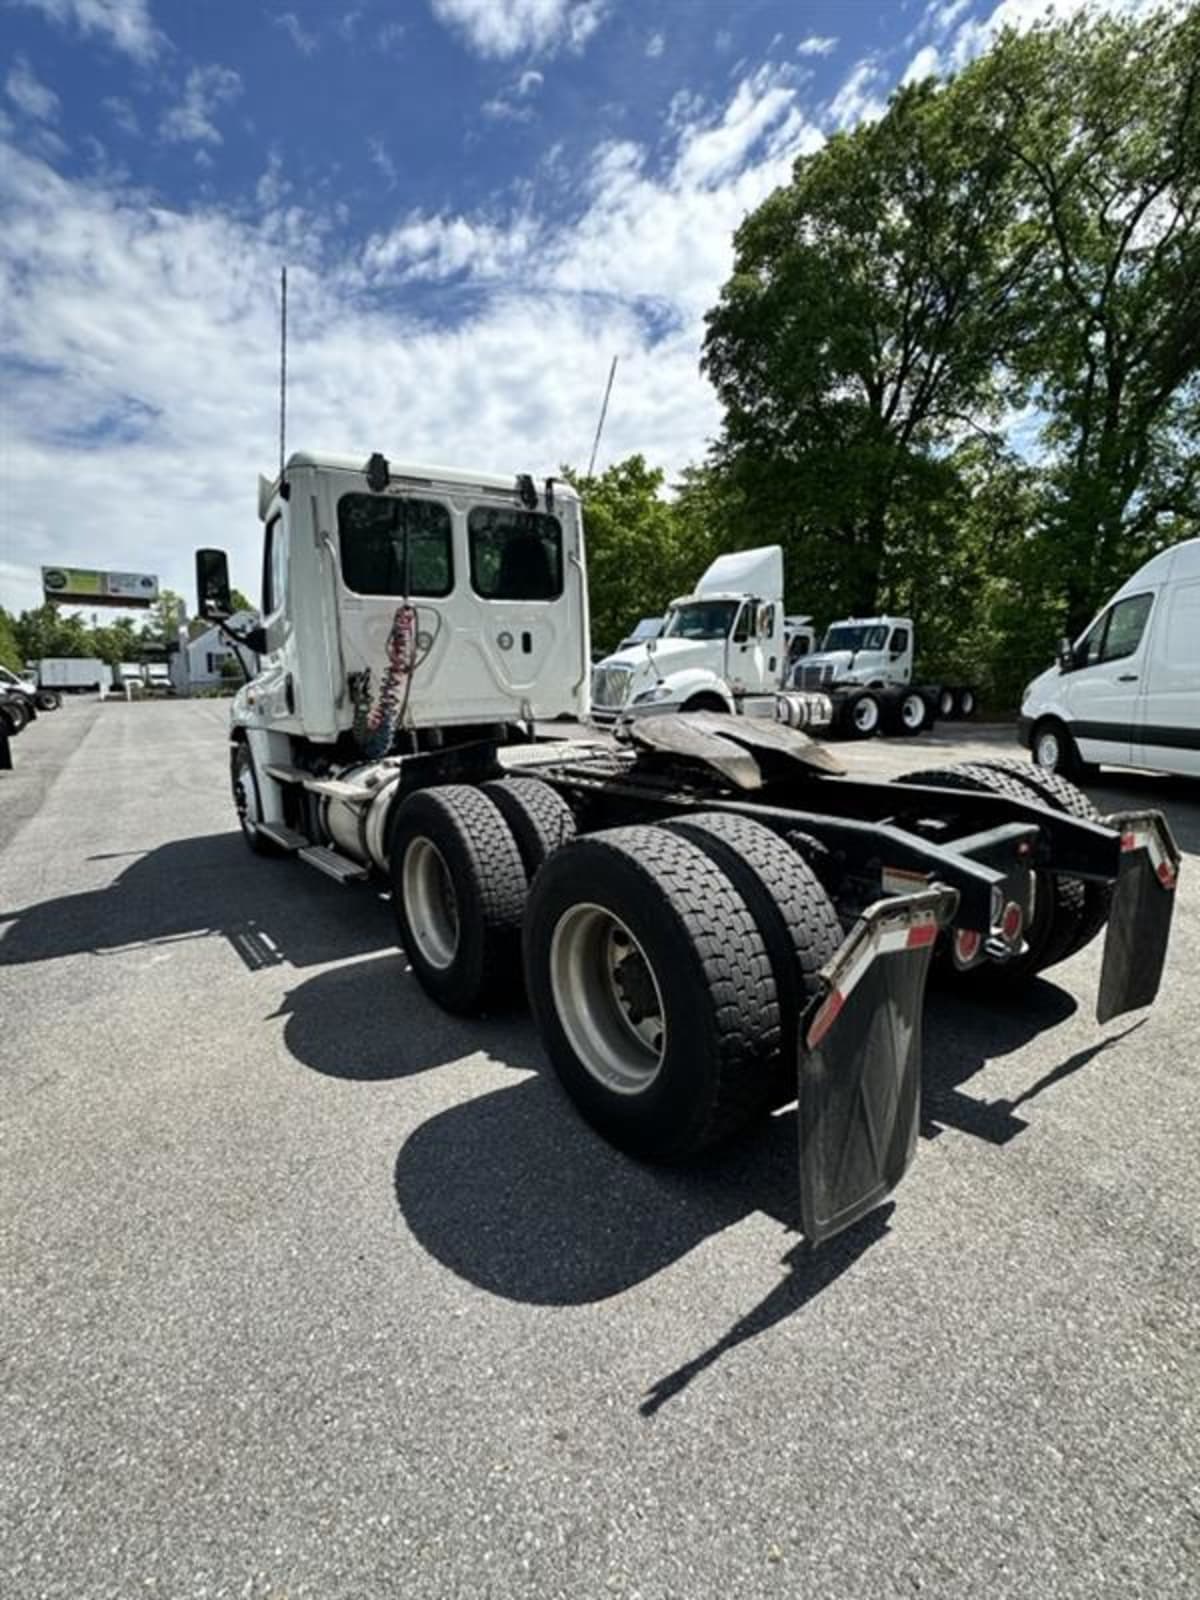
[{"label": "white background semi cab with tall roof fairing and hood", "polygon": [[734,710],[782,683],[784,554],[778,544],[718,555],[690,595],[670,602],[656,638],[592,672],[592,715]]}]

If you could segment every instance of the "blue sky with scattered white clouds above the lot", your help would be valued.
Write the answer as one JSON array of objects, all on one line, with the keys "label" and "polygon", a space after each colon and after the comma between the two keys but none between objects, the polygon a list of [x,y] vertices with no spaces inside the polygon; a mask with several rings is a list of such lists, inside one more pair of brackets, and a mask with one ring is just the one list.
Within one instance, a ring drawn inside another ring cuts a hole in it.
[{"label": "blue sky with scattered white clouds above the lot", "polygon": [[[1058,0],[1058,11],[1077,0]],[[0,0],[0,605],[230,550],[290,442],[677,472],[731,232],[1045,0]]]}]

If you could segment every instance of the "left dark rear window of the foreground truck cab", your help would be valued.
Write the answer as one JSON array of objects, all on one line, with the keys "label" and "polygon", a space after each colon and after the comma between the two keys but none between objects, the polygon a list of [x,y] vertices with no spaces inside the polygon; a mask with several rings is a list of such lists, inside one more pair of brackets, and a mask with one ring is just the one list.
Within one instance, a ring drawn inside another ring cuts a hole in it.
[{"label": "left dark rear window of the foreground truck cab", "polygon": [[360,595],[448,595],[454,568],[440,501],[342,494],[338,547],[346,587]]}]

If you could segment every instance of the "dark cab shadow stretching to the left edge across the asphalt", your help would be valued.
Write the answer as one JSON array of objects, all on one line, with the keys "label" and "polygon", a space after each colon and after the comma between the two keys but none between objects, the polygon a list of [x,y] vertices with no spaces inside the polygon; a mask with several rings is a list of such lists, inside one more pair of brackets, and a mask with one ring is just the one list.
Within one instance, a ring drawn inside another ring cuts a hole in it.
[{"label": "dark cab shadow stretching to the left edge across the asphalt", "polygon": [[134,856],[104,888],[0,909],[0,966],[213,934],[227,939],[251,971],[336,962],[395,944],[378,894],[362,886],[347,893],[296,862],[251,856],[240,832],[226,832]]}]

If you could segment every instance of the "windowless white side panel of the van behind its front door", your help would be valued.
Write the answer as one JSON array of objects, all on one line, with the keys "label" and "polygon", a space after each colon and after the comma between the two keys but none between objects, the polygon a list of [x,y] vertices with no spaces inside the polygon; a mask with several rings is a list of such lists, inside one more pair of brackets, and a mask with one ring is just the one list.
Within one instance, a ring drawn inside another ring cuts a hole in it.
[{"label": "windowless white side panel of the van behind its front door", "polygon": [[1200,574],[1158,595],[1134,762],[1200,778]]}]

